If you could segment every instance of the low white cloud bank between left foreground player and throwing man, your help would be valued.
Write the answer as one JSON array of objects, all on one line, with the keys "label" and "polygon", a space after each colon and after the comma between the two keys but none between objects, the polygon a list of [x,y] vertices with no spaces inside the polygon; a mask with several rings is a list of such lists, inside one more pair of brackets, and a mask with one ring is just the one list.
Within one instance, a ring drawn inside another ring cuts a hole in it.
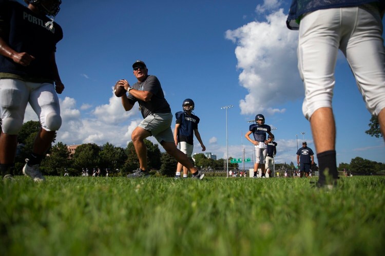
[{"label": "low white cloud bank between left foreground player and throwing man", "polygon": [[[76,107],[76,100],[73,98],[60,99],[60,106],[63,121],[57,132],[56,142],[61,141],[67,145],[82,143],[103,145],[109,142],[115,146],[126,147],[131,141],[133,129],[142,120],[139,111],[124,111],[120,99],[112,93],[109,103],[94,108],[90,116],[86,116]],[[88,109],[89,106],[84,103],[81,109]],[[136,115],[140,117],[135,117]],[[38,118],[28,105],[24,122],[29,120],[37,121]]]}]

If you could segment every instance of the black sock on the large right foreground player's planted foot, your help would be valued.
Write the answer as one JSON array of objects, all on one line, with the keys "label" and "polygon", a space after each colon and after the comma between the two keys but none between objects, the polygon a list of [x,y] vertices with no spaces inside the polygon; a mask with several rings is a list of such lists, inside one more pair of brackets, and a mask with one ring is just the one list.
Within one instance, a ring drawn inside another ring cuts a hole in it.
[{"label": "black sock on the large right foreground player's planted foot", "polygon": [[319,182],[326,182],[326,173],[333,179],[338,179],[336,151],[329,150],[317,154],[319,164]]}]

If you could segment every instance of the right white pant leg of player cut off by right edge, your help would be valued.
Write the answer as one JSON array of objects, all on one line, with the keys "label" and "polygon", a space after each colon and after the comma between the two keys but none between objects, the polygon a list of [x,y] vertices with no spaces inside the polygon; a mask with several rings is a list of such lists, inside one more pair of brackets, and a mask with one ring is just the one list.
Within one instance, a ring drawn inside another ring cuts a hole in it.
[{"label": "right white pant leg of player cut off by right edge", "polygon": [[373,5],[346,8],[343,12],[343,17],[352,25],[352,33],[341,41],[340,49],[347,57],[367,109],[377,116],[385,108],[385,51],[381,16]]}]

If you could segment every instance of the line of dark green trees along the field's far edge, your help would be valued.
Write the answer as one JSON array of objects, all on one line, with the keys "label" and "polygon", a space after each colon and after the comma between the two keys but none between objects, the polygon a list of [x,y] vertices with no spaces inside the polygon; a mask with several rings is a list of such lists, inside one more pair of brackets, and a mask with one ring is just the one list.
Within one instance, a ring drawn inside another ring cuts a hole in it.
[{"label": "line of dark green trees along the field's far edge", "polygon": [[[38,121],[28,121],[23,124],[22,129],[17,137],[19,143],[18,152],[15,160],[15,174],[21,175],[25,159],[29,157],[32,151],[32,145],[37,132],[40,130]],[[55,143],[56,137],[53,140]],[[148,169],[152,172],[159,172],[161,175],[174,176],[177,167],[177,161],[167,153],[162,153],[158,144],[153,144],[149,140],[145,140],[147,147],[147,164]],[[204,154],[199,153],[194,156],[195,166],[203,170],[224,170],[224,159],[207,158]],[[229,158],[229,169],[238,169],[238,163],[230,163],[232,157]],[[192,161],[192,159],[191,159]],[[52,145],[47,155],[41,163],[41,171],[44,175],[64,175],[65,169],[71,176],[81,176],[83,168],[92,173],[92,170],[101,169],[102,175],[105,175],[106,169],[109,169],[109,175],[125,175],[139,166],[139,159],[135,152],[132,142],[129,142],[126,148],[117,147],[107,142],[103,146],[95,143],[85,143],[79,145],[75,153],[70,155],[68,147],[63,142],[57,142]],[[275,165],[276,169],[295,169],[293,162],[290,164],[280,163]],[[356,157],[352,159],[350,164],[341,163],[338,169],[343,168],[354,172],[376,173],[385,170],[384,163],[377,163],[368,159]],[[314,164],[313,170],[318,170],[318,166]]]}]

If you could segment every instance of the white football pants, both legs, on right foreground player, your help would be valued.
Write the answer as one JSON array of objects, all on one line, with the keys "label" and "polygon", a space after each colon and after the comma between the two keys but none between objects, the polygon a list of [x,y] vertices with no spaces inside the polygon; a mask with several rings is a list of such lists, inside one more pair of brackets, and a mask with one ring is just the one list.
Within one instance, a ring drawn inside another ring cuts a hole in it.
[{"label": "white football pants, both legs, on right foreground player", "polygon": [[332,108],[338,49],[347,56],[368,110],[385,107],[385,53],[379,11],[371,5],[318,10],[300,24],[298,69],[304,81],[302,112],[307,119],[319,108]]}]

